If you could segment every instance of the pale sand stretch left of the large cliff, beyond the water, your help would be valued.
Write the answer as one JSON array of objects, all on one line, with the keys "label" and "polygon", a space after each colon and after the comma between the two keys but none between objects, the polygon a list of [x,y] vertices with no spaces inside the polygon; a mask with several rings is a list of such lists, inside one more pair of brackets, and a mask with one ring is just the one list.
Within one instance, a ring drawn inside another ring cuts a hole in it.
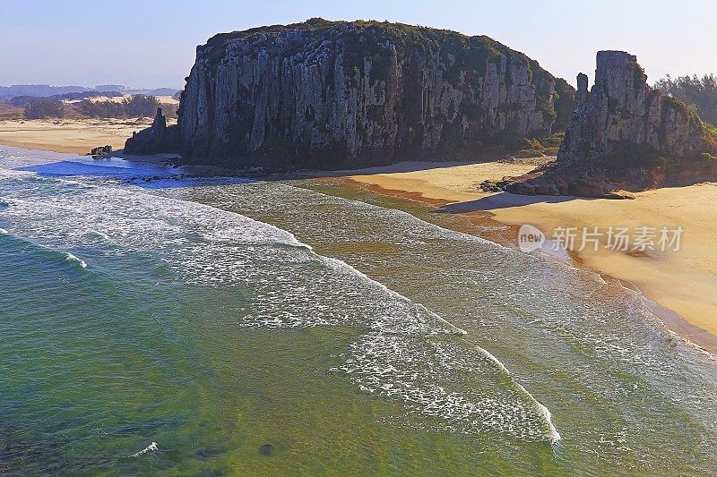
[{"label": "pale sand stretch left of the large cliff, beyond the water", "polygon": [[76,154],[105,145],[121,149],[132,132],[149,127],[151,121],[151,118],[0,121],[0,144]]}]

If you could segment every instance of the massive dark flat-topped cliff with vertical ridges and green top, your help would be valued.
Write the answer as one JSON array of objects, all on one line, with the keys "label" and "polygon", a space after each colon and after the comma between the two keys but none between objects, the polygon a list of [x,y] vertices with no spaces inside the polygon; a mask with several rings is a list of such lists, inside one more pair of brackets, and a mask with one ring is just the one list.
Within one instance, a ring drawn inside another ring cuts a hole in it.
[{"label": "massive dark flat-topped cliff with vertical ridges and green top", "polygon": [[566,81],[487,37],[315,19],[197,47],[178,149],[234,166],[475,157],[566,124],[573,97]]}]

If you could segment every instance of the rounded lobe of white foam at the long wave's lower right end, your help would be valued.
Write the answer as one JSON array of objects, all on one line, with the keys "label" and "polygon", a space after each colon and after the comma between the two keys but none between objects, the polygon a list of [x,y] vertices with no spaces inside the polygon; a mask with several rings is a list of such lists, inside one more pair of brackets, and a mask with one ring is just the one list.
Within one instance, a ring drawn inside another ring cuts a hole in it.
[{"label": "rounded lobe of white foam at the long wave's lower right end", "polygon": [[[560,434],[548,409],[487,354],[468,343],[372,332],[350,346],[346,363],[335,370],[348,373],[364,391],[441,418],[448,430],[494,430],[556,443]],[[462,376],[480,380],[464,382]]]}]

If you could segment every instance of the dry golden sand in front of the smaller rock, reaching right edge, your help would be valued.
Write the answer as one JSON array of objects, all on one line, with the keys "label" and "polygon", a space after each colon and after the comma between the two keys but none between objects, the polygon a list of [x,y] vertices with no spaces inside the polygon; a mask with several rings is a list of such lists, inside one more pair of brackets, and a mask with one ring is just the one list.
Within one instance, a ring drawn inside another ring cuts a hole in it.
[{"label": "dry golden sand in front of the smaller rock, reaching right edge", "polygon": [[[546,234],[555,227],[681,226],[678,251],[644,251],[635,256],[599,246],[579,255],[584,263],[613,277],[635,284],[645,296],[677,312],[690,323],[717,335],[717,184],[660,189],[637,194],[636,200],[570,200],[494,209],[497,220],[508,224],[531,223]],[[635,232],[631,235],[634,237]],[[659,233],[658,233],[659,235]],[[601,237],[601,245],[607,237]]]}]

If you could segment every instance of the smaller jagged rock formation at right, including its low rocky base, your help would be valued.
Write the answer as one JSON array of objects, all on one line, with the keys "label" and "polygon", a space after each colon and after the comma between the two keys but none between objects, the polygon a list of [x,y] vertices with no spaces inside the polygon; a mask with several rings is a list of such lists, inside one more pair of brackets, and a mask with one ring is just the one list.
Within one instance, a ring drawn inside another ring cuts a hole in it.
[{"label": "smaller jagged rock formation at right, including its low rocky base", "polygon": [[635,55],[600,51],[595,84],[578,74],[575,104],[555,166],[486,191],[631,198],[628,191],[717,179],[717,140],[694,110],[647,85]]}]

